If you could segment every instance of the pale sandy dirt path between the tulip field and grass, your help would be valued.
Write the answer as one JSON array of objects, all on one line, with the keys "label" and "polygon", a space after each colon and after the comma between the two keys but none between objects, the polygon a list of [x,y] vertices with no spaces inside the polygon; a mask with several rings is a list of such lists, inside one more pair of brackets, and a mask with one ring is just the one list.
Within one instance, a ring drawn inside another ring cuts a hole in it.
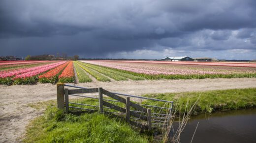
[{"label": "pale sandy dirt path between the tulip field and grass", "polygon": [[[250,88],[256,87],[256,78],[93,82],[76,86],[102,87],[111,92],[141,95]],[[0,143],[19,142],[29,121],[42,114],[42,110],[33,109],[27,104],[50,99],[56,99],[56,85],[0,86]]]}]

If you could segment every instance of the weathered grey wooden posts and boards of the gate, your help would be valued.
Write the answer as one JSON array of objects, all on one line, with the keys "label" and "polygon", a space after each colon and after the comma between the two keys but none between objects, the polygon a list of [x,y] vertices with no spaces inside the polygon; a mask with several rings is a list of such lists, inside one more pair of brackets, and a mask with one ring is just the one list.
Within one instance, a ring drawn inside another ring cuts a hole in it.
[{"label": "weathered grey wooden posts and boards of the gate", "polygon": [[[88,105],[88,104],[81,104],[81,103],[73,103],[69,102],[68,95],[75,95],[75,94],[87,94],[87,93],[98,93],[98,107],[99,112],[104,113],[104,108],[113,109],[116,111],[119,111],[121,113],[124,113],[126,116],[126,121],[131,124],[136,124],[136,122],[130,120],[131,116],[135,117],[136,119],[141,119],[147,122],[146,128],[148,130],[152,129],[152,116],[151,116],[151,109],[145,108],[139,104],[133,103],[130,101],[130,97],[121,97],[119,95],[116,95],[114,93],[111,93],[105,89],[102,88],[88,88],[88,89],[64,89],[64,84],[57,84],[57,105],[59,109],[65,110],[65,112],[69,112],[69,108],[78,108],[78,109],[86,109],[86,108],[79,108],[74,106],[69,106],[69,104],[78,104],[78,105],[86,105],[86,106],[94,106],[95,105]],[[69,86],[69,85],[68,85]],[[74,86],[71,86],[74,87]],[[103,95],[106,95],[112,99],[115,100],[109,100],[109,101],[118,101],[125,104],[126,108],[120,107],[118,105],[112,104],[110,102],[107,102],[106,99],[103,100]],[[84,95],[76,95],[81,97],[88,97]],[[92,97],[91,97],[92,98]],[[157,99],[156,99],[157,100]],[[136,111],[130,110],[130,107],[133,107],[136,109]],[[91,109],[88,109],[91,110]],[[146,115],[139,114],[139,113],[145,113]],[[154,113],[156,114],[156,113]]]}]

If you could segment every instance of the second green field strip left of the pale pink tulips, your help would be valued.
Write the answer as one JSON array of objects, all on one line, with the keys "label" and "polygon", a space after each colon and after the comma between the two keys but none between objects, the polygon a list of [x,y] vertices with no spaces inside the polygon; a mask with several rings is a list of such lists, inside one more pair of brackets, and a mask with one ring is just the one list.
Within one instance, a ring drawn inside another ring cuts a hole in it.
[{"label": "second green field strip left of the pale pink tulips", "polygon": [[101,69],[101,67],[96,67],[96,66],[93,66],[93,65],[89,65],[89,64],[86,64],[86,63],[81,63],[82,65],[88,67],[88,68],[91,68],[95,71],[98,71],[99,73],[102,73],[110,78],[113,78],[114,80],[116,81],[121,81],[121,80],[128,80],[127,78],[121,76],[121,75],[118,75],[116,73],[113,73],[113,72],[110,72],[110,71],[105,71],[103,69]]}]

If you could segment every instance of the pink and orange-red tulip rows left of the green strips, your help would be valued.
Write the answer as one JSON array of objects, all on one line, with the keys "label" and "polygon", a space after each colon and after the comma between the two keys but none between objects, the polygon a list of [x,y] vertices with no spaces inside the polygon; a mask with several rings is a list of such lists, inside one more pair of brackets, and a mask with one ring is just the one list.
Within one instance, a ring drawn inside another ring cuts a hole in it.
[{"label": "pink and orange-red tulip rows left of the green strips", "polygon": [[[9,63],[9,64],[8,64]],[[0,84],[34,84],[56,83],[59,74],[72,66],[72,61],[22,61],[22,62],[0,62]],[[6,67],[10,67],[7,68]],[[73,68],[72,68],[73,70]],[[72,77],[71,77],[72,76]],[[74,79],[74,72],[66,70],[62,79]],[[74,82],[74,80],[67,80]]]}]

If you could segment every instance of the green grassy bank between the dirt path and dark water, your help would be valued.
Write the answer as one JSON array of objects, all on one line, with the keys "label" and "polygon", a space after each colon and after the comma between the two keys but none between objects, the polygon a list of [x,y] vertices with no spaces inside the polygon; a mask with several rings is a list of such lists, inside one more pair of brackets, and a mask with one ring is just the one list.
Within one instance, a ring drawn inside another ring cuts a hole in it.
[{"label": "green grassy bank between the dirt path and dark water", "polygon": [[[174,101],[178,113],[184,114],[187,101],[192,105],[197,99],[194,113],[212,113],[216,110],[246,109],[256,106],[256,88],[218,90],[207,92],[186,92],[143,95],[157,99]],[[145,104],[164,106],[162,102],[143,101]]]}]

